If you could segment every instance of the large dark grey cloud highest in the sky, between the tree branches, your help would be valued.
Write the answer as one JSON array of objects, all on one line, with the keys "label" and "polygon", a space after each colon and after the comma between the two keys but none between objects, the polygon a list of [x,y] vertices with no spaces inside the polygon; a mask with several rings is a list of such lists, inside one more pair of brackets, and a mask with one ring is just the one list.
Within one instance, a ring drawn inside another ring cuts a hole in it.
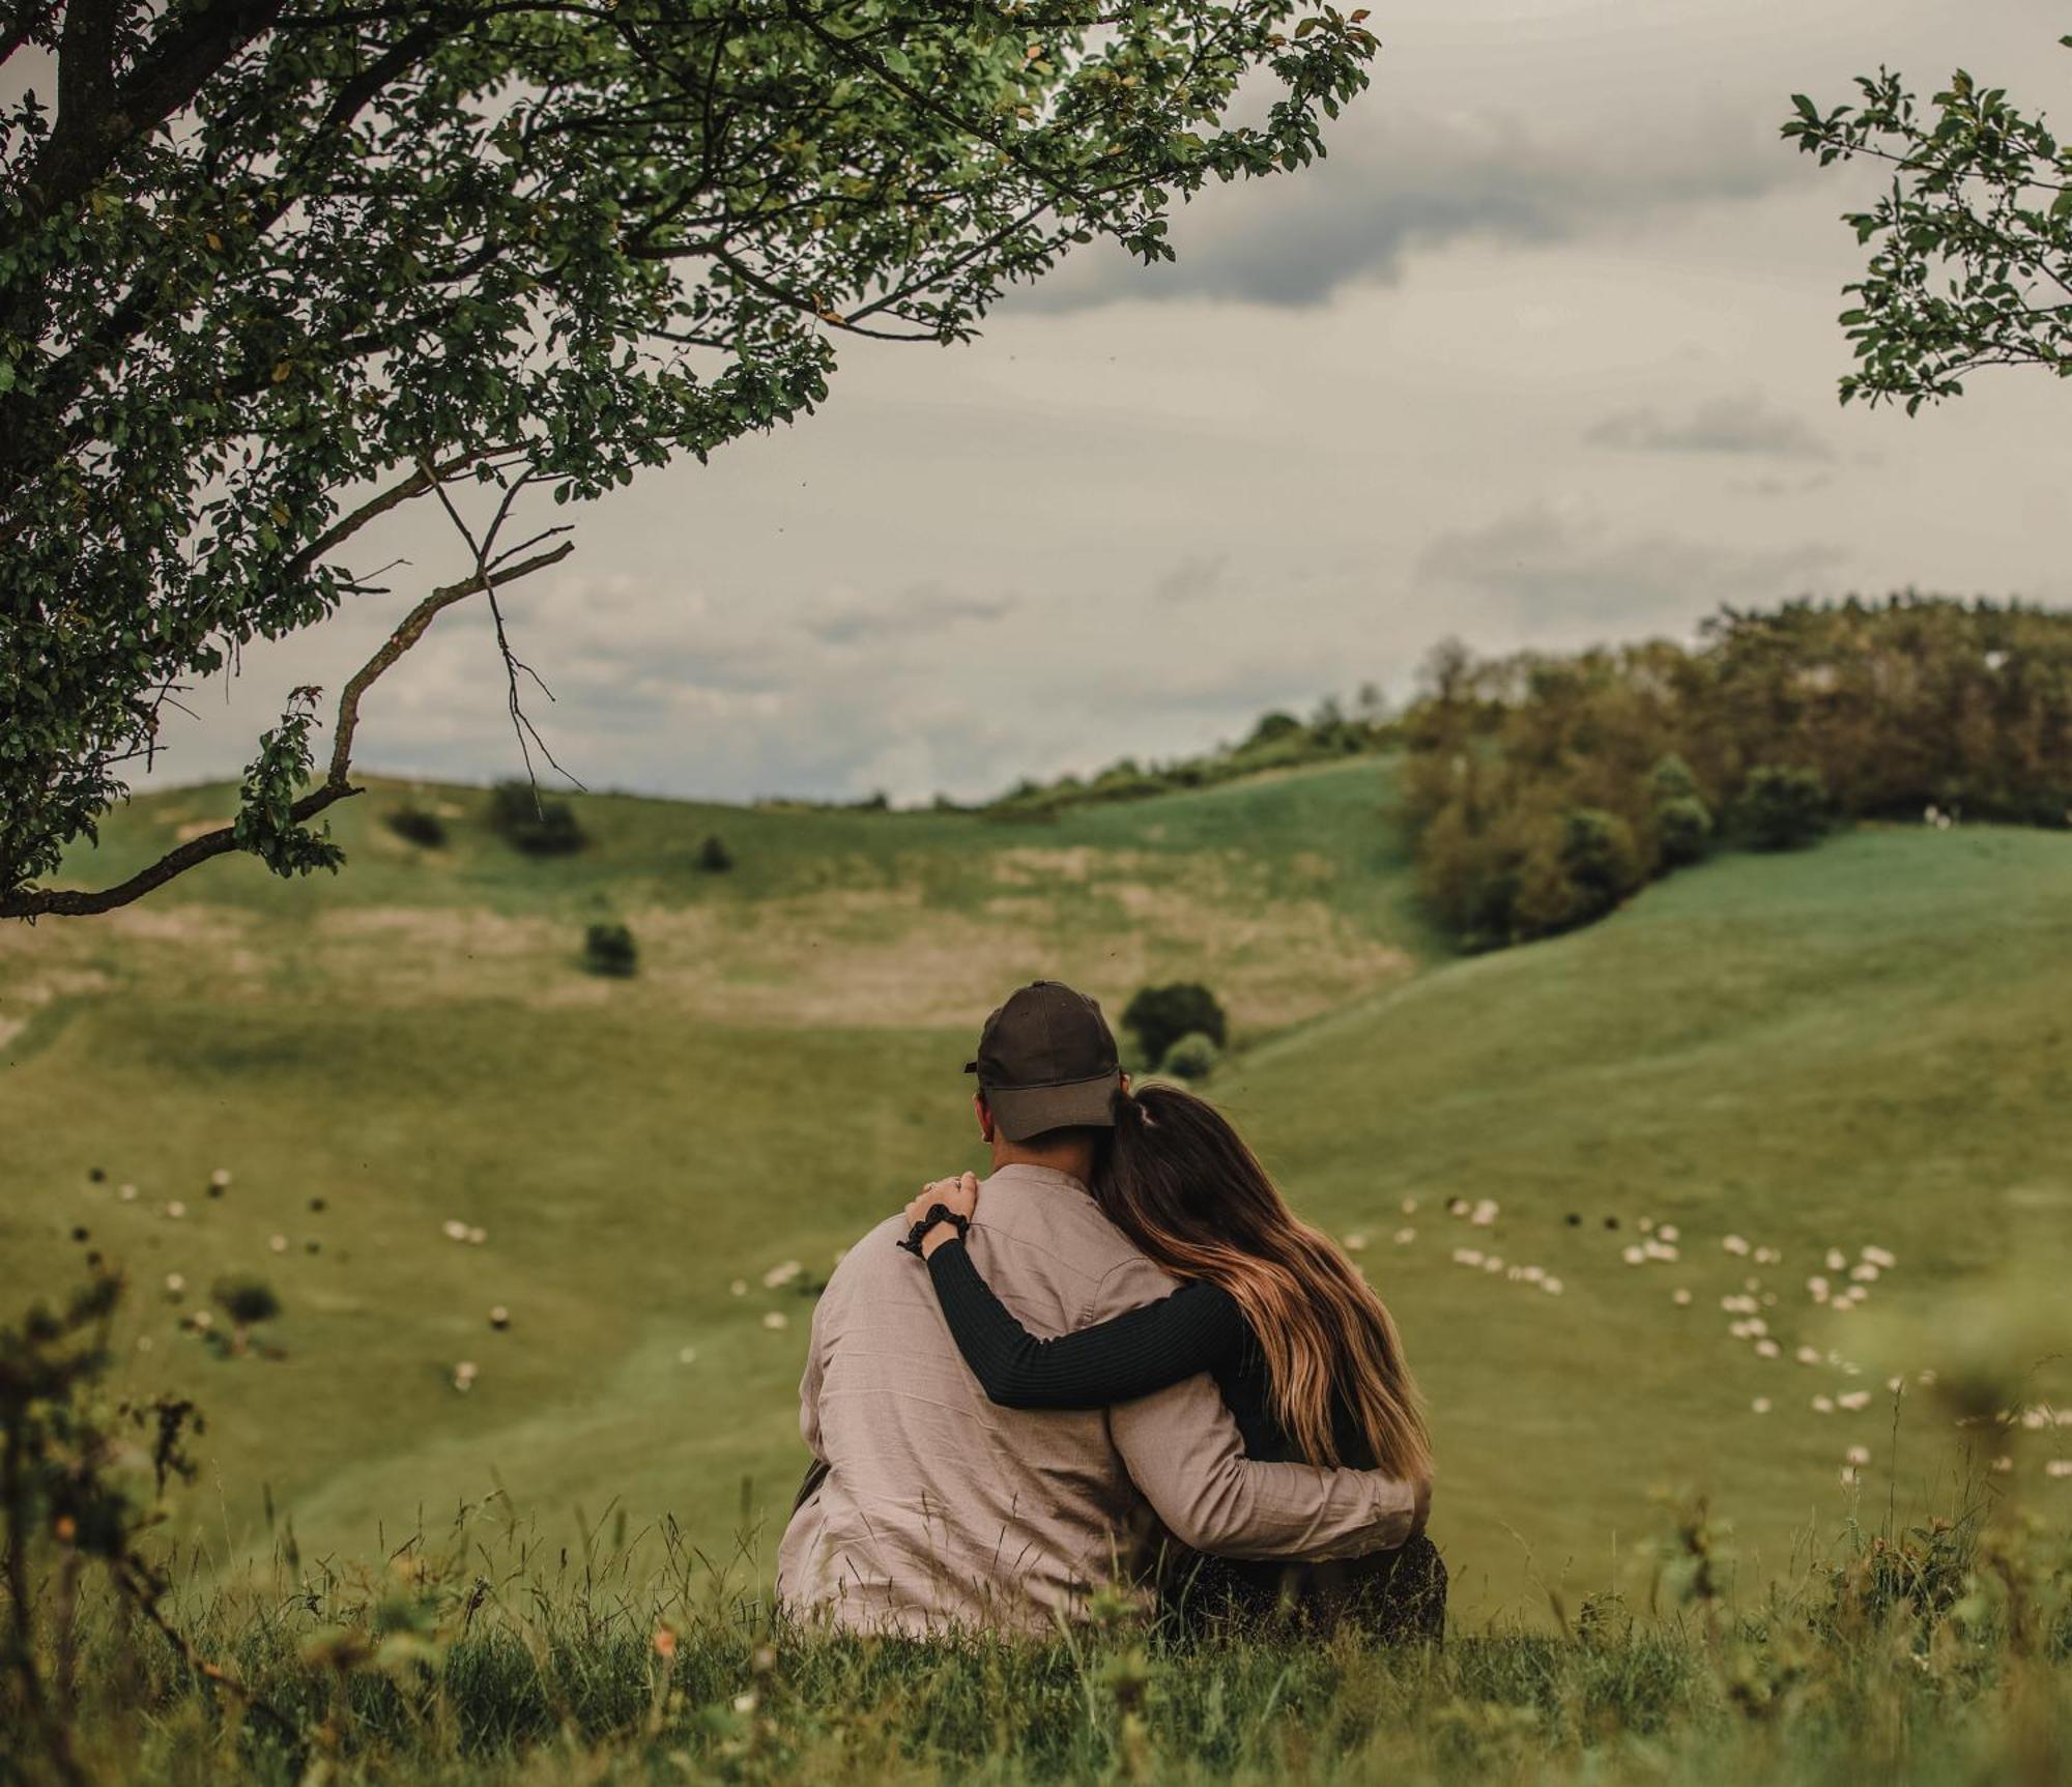
[{"label": "large dark grey cloud highest in the sky, between the tree branches", "polygon": [[1593,116],[1575,131],[1519,114],[1351,112],[1295,178],[1208,189],[1173,220],[1173,263],[1117,249],[1071,257],[1021,299],[1069,311],[1231,299],[1299,309],[1353,282],[1394,284],[1413,253],[1457,240],[1546,247],[1660,214],[1769,193],[1798,176],[1769,120],[1701,116],[1647,153]]}]

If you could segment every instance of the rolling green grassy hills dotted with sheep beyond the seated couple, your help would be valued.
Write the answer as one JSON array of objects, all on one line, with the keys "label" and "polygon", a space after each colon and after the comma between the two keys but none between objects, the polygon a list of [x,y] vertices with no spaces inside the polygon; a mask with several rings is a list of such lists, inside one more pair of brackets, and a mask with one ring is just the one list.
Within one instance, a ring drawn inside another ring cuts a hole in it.
[{"label": "rolling green grassy hills dotted with sheep beyond the seated couple", "polygon": [[[957,1070],[984,1010],[1038,972],[1111,1010],[1204,978],[1245,1045],[1216,1095],[1307,1215],[1363,1238],[1403,1321],[1463,1605],[1604,1586],[1660,1524],[1656,1482],[1711,1486],[1751,1565],[1782,1567],[1848,1511],[1844,1447],[1890,1451],[1881,1368],[1825,1354],[2068,1229],[2072,840],[1867,829],[1459,962],[1388,794],[1357,759],[1026,825],[582,798],[593,848],[533,860],[481,792],[383,784],[340,809],[336,881],[230,860],[0,933],[0,1294],[85,1248],[128,1263],[137,1381],[215,1416],[215,1549],[259,1540],[261,1484],[305,1553],[358,1557],[501,1484],[545,1522],[617,1501],[723,1551],[789,1503],[810,1287],[920,1178],[976,1163]],[[445,848],[387,831],[404,800],[445,815]],[[143,800],[81,879],[226,811]],[[713,831],[727,875],[696,869]],[[636,978],[582,970],[599,916],[632,927]],[[1500,1209],[1477,1227],[1450,1198]],[[1622,1260],[1643,1221],[1680,1229],[1676,1263]],[[1865,1244],[1898,1256],[1869,1304],[1813,1308],[1825,1248]],[[178,1329],[226,1271],[278,1287],[286,1358]],[[1778,1360],[1728,1337],[1722,1296],[1757,1298]],[[1811,1408],[1857,1389],[1871,1410]],[[1898,1476],[1865,1482],[1904,1501],[1948,1457],[1908,1416]]]}]

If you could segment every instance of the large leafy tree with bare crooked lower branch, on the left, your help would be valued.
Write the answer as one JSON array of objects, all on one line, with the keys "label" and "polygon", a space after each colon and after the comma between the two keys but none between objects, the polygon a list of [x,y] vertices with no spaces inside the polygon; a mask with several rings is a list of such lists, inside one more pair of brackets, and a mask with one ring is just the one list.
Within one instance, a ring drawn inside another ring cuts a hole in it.
[{"label": "large leafy tree with bare crooked lower branch, on the left", "polygon": [[[106,912],[228,850],[336,869],[361,703],[557,564],[520,520],[808,413],[841,336],[970,338],[1175,197],[1299,168],[1363,12],[1285,0],[23,0],[0,64],[0,916]],[[1256,122],[1233,122],[1243,91]],[[54,104],[52,104],[54,100]],[[236,825],[39,887],[160,719],[253,639],[387,593],[435,504],[460,574],[338,694],[296,690]],[[551,761],[551,759],[549,759]],[[307,792],[305,792],[307,790]]]}]

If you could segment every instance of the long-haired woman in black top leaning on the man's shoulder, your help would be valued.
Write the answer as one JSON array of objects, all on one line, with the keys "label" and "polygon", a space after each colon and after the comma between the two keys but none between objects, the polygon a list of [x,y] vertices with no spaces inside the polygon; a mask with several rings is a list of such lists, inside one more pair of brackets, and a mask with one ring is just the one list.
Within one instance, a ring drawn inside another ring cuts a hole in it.
[{"label": "long-haired woman in black top leaning on the man's shoulder", "polygon": [[[1382,1300],[1299,1223],[1243,1138],[1179,1086],[1123,1090],[1094,1200],[1135,1246],[1183,1279],[1173,1296],[1059,1339],[1038,1339],[986,1285],[957,1223],[920,1238],[943,1316],[986,1395],[1007,1408],[1104,1408],[1214,1372],[1258,1459],[1347,1464],[1421,1486],[1432,1445]],[[908,1207],[978,1209],[945,1180]],[[1438,1638],[1446,1571],[1419,1534],[1401,1551],[1330,1565],[1200,1559],[1185,1613],[1345,1615],[1384,1636]]]}]

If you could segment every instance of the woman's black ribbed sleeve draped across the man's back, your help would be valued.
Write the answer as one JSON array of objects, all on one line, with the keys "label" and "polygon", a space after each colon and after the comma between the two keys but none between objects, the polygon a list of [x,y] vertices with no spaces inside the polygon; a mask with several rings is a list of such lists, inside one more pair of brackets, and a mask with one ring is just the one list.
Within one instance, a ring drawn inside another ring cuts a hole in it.
[{"label": "woman's black ribbed sleeve draped across the man's back", "polygon": [[1005,1408],[1131,1401],[1214,1370],[1249,1337],[1231,1294],[1204,1279],[1077,1333],[1036,1339],[992,1294],[963,1242],[943,1242],[928,1254],[928,1277],[957,1352]]}]

